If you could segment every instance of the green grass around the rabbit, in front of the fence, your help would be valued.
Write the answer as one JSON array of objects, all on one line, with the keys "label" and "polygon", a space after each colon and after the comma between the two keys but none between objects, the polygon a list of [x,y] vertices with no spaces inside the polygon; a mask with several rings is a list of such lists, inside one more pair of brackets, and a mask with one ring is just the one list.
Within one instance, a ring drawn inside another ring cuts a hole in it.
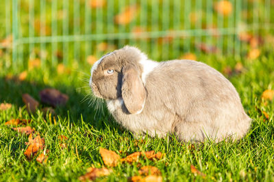
[{"label": "green grass around the rabbit, in front of the fence", "polygon": [[[261,100],[262,92],[274,87],[273,53],[263,52],[253,61],[208,55],[200,55],[199,60],[219,71],[227,65],[234,67],[236,61],[245,66],[242,74],[229,77],[253,119],[250,132],[242,140],[218,144],[207,141],[195,144],[195,149],[191,149],[190,143],[178,142],[173,137],[147,136],[145,142],[136,145],[132,134],[115,123],[105,106],[103,110],[97,110],[95,105],[89,106],[88,101],[82,102],[88,94],[88,82],[84,81],[88,78],[89,67],[86,65],[69,67],[72,70],[69,74],[58,74],[52,68],[30,70],[22,82],[5,80],[5,76],[18,74],[23,67],[17,67],[18,72],[0,67],[0,103],[13,104],[11,109],[0,111],[0,181],[77,181],[86,168],[103,166],[99,147],[116,153],[121,150],[121,157],[135,151],[166,153],[159,161],[140,160],[141,166],[158,167],[164,181],[273,181],[274,102],[264,106]],[[40,110],[29,115],[21,100],[22,93],[29,93],[39,100],[38,92],[46,87],[60,89],[69,95],[66,106],[55,110],[56,123],[49,115],[45,122]],[[261,110],[269,113],[269,119],[264,118]],[[13,118],[33,119],[30,125],[45,138],[45,149],[49,149],[47,164],[39,164],[35,158],[28,161],[23,155],[27,136],[4,125]],[[69,138],[66,149],[60,147],[60,135]],[[206,174],[206,179],[195,177],[190,172],[191,164]],[[127,177],[137,175],[139,168],[138,164],[119,164],[102,180],[127,181]]]}]

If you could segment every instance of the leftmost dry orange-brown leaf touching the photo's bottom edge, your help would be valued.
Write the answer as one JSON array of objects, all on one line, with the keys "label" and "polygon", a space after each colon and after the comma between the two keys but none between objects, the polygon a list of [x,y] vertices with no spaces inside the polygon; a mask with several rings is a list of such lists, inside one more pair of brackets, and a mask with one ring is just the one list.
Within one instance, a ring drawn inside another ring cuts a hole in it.
[{"label": "leftmost dry orange-brown leaf touching the photo's bottom edge", "polygon": [[88,168],[86,175],[79,177],[79,181],[93,181],[98,177],[104,177],[110,175],[112,170],[107,168]]}]

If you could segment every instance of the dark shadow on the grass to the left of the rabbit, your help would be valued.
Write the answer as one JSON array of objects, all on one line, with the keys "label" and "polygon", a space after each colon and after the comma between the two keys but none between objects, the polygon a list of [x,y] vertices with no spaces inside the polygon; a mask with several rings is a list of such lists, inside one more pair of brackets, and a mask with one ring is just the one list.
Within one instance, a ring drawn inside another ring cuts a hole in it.
[{"label": "dark shadow on the grass to the left of the rabbit", "polygon": [[[22,94],[28,93],[36,99],[40,105],[39,109],[49,106],[40,102],[39,92],[42,89],[53,88],[49,85],[44,85],[39,82],[29,82],[26,80],[20,81],[16,78],[4,78],[0,77],[0,103],[6,102],[13,104],[14,106],[23,107],[25,106],[22,100]],[[60,119],[69,119],[71,123],[79,125],[82,123],[89,123],[97,130],[104,129],[106,125],[110,125],[110,128],[120,128],[115,123],[114,119],[108,113],[105,104],[102,103],[101,108],[90,106],[88,100],[84,101],[86,95],[77,92],[76,88],[68,87],[66,85],[58,85],[54,87],[62,93],[69,95],[69,101],[65,106],[58,106],[55,108],[55,114]]]}]

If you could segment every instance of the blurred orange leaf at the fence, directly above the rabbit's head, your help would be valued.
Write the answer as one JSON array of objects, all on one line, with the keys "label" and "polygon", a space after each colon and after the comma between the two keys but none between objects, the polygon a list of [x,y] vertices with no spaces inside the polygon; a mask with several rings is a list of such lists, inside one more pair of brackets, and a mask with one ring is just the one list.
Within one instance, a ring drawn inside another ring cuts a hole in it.
[{"label": "blurred orange leaf at the fence, directly above the rabbit's head", "polygon": [[127,25],[132,22],[139,12],[138,5],[130,5],[125,10],[114,17],[114,22],[119,25]]}]

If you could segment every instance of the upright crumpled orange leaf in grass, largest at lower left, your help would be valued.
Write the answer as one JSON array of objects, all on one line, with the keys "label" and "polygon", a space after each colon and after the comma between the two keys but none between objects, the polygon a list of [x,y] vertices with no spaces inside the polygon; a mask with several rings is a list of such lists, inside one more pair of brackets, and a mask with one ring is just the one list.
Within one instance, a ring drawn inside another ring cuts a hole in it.
[{"label": "upright crumpled orange leaf in grass, largest at lower left", "polygon": [[27,147],[27,150],[24,152],[24,155],[27,157],[27,159],[32,159],[34,155],[39,150],[42,150],[45,145],[45,139],[40,138],[40,135],[37,135],[35,138],[32,137],[32,134],[29,135],[29,142],[26,142],[26,145],[29,145]]}]

